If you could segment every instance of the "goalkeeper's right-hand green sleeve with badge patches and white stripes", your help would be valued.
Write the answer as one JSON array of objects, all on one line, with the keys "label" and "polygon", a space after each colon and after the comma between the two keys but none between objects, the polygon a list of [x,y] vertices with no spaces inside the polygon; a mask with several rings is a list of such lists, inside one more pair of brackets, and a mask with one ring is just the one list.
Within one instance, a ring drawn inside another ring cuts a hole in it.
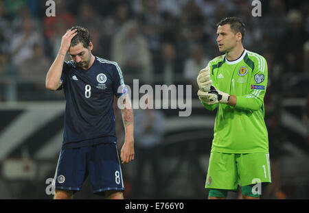
[{"label": "goalkeeper's right-hand green sleeve with badge patches and white stripes", "polygon": [[235,108],[240,110],[260,110],[264,103],[267,77],[267,62],[264,58],[262,58],[262,63],[257,64],[254,68],[253,75],[250,80],[251,84],[249,94],[236,96],[237,103]]}]

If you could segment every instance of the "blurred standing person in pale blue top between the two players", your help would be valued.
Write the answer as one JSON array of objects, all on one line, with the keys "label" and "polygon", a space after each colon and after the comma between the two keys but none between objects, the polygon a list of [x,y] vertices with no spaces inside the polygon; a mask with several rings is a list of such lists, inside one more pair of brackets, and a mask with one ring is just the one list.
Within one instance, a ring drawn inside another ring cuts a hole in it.
[{"label": "blurred standing person in pale blue top between the two players", "polygon": [[[165,133],[165,116],[160,110],[154,108],[154,101],[151,97],[146,99],[145,110],[135,110],[135,150],[136,168],[135,181],[133,184],[133,197],[135,199],[145,199],[146,190],[143,187],[147,179],[146,168],[151,170],[152,189],[155,197],[160,198],[162,191],[160,177],[160,153],[158,145],[163,142]],[[148,163],[150,167],[148,167]]]}]

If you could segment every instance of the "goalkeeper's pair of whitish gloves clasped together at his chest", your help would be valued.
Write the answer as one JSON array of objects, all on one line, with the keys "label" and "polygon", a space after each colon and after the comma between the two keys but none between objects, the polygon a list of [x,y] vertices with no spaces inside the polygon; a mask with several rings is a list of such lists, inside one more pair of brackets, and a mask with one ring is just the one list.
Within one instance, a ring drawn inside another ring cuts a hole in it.
[{"label": "goalkeeper's pair of whitish gloves clasped together at his chest", "polygon": [[211,105],[216,103],[228,103],[229,94],[221,92],[216,89],[212,84],[210,78],[210,67],[203,68],[197,77],[198,83],[198,98],[205,104]]}]

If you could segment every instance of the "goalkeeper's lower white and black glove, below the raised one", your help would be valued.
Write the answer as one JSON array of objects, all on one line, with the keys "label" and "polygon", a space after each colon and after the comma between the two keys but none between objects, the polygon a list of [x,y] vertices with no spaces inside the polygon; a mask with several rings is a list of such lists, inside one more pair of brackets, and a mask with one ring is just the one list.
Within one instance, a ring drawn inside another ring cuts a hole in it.
[{"label": "goalkeeper's lower white and black glove, below the raised one", "polygon": [[214,86],[210,86],[209,92],[198,90],[198,98],[207,105],[229,102],[229,94],[217,90]]}]

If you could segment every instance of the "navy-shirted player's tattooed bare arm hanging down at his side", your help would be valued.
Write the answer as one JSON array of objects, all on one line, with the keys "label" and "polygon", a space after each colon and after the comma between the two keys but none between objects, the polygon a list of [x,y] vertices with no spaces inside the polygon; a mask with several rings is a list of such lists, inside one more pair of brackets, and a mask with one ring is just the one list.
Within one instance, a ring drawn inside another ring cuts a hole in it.
[{"label": "navy-shirted player's tattooed bare arm hanging down at his side", "polygon": [[124,129],[126,132],[124,145],[120,153],[120,158],[122,158],[122,163],[126,164],[134,160],[134,115],[133,108],[130,103],[130,98],[128,94],[125,95],[124,99],[124,109],[122,109],[122,121],[124,123]]}]

